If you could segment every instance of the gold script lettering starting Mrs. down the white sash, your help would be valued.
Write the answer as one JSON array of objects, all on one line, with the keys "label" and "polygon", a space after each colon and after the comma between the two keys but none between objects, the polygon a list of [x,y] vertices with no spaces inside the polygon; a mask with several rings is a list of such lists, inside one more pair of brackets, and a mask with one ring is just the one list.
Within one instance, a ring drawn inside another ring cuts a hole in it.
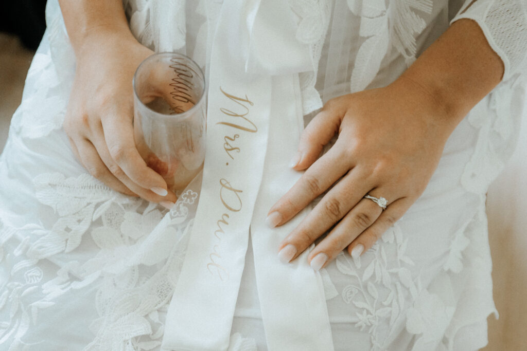
[{"label": "gold script lettering starting Mrs. down the white sash", "polygon": [[[229,118],[228,121],[221,121],[217,122],[216,124],[226,125],[228,127],[239,129],[240,131],[248,133],[258,132],[258,127],[248,118],[249,107],[253,106],[253,103],[248,99],[247,95],[245,96],[245,98],[238,97],[223,91],[221,87],[220,91],[231,102],[238,105],[233,105],[233,107],[230,107],[232,109],[221,107],[221,113],[225,116],[237,119]],[[236,110],[237,112],[233,110]],[[231,152],[240,152],[240,146],[233,146],[231,144],[232,142],[236,141],[238,137],[240,137],[239,134],[234,134],[232,137],[228,135],[225,135],[225,137],[223,137],[223,141],[225,141],[225,143],[223,144],[223,149],[225,149],[225,152],[232,160],[234,160],[235,158],[232,156]],[[226,166],[229,166],[228,162],[226,163]],[[229,279],[229,272],[227,268],[223,267],[219,263],[222,258],[219,252],[219,245],[221,243],[222,235],[225,234],[225,229],[229,225],[229,222],[227,220],[230,219],[229,214],[232,215],[233,213],[237,213],[242,209],[242,200],[240,197],[240,193],[242,193],[243,190],[233,187],[230,184],[229,180],[223,177],[219,179],[219,184],[219,199],[221,200],[221,204],[227,211],[226,213],[223,213],[221,215],[221,218],[217,221],[218,228],[214,231],[214,236],[216,236],[216,238],[218,239],[218,243],[213,246],[212,252],[209,254],[210,260],[209,263],[207,263],[207,269],[211,274],[214,274],[215,271],[218,274],[220,280],[223,281]]]}]

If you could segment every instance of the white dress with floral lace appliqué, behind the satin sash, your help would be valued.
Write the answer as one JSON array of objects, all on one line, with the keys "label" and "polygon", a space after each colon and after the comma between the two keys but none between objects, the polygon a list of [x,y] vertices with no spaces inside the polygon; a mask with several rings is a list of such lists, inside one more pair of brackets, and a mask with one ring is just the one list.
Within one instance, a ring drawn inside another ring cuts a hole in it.
[{"label": "white dress with floral lace appliqu\u00e9, behind the satin sash", "polygon": [[[464,9],[446,0],[289,3],[297,38],[313,55],[313,71],[300,74],[306,119],[329,98],[392,82]],[[125,2],[144,45],[203,67],[220,6]],[[486,317],[496,310],[485,193],[519,129],[527,5],[477,0],[455,19],[463,17],[479,23],[503,59],[503,82],[455,129],[405,216],[359,259],[342,253],[321,270],[335,349],[486,344]],[[0,158],[0,349],[159,349],[198,193],[184,192],[169,213],[86,173],[62,129],[75,57],[57,0],[48,0],[46,19]],[[232,350],[266,349],[251,255],[249,248]]]}]

